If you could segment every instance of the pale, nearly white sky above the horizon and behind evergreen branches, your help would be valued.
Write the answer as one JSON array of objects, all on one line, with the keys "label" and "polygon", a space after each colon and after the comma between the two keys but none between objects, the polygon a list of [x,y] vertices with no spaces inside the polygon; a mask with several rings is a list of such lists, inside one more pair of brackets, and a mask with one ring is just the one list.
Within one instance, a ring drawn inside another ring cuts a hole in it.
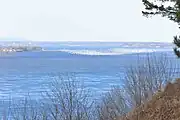
[{"label": "pale, nearly white sky above the horizon and behind evergreen branches", "polygon": [[0,0],[0,40],[172,42],[177,24],[141,0]]}]

